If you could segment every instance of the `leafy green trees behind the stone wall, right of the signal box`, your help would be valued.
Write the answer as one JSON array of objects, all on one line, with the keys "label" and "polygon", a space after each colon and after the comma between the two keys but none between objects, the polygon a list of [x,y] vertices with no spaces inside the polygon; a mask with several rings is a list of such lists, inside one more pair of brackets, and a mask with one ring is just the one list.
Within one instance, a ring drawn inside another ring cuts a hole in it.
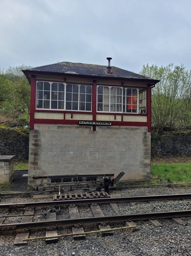
[{"label": "leafy green trees behind the stone wall, right of the signal box", "polygon": [[173,63],[166,67],[147,64],[140,74],[161,80],[152,89],[152,125],[159,131],[166,127],[189,128],[191,70]]}]

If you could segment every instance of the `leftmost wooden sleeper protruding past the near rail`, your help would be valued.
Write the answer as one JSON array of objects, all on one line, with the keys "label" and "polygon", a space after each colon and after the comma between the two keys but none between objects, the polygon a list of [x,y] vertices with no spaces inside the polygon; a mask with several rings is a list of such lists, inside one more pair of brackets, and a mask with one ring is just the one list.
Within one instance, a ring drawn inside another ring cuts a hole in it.
[{"label": "leftmost wooden sleeper protruding past the near rail", "polygon": [[[28,214],[34,214],[34,209],[28,208],[25,210],[24,215]],[[23,216],[21,222],[32,222],[33,216]],[[23,241],[23,239],[26,239],[29,237],[29,231],[25,232],[18,232],[16,235],[16,238],[14,240],[14,245],[27,245],[27,241]]]}]

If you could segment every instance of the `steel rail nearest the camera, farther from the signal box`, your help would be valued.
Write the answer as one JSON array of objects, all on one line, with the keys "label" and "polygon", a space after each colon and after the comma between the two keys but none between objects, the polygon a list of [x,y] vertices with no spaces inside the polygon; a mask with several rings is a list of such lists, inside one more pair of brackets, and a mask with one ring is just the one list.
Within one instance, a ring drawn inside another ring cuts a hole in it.
[{"label": "steel rail nearest the camera, farther from the signal box", "polygon": [[150,220],[150,219],[162,219],[162,218],[177,218],[177,217],[189,217],[191,216],[191,210],[188,211],[172,211],[172,212],[160,212],[160,213],[138,213],[131,215],[114,215],[114,216],[99,216],[91,218],[78,218],[78,219],[64,219],[64,220],[49,220],[41,222],[25,222],[25,223],[13,223],[0,225],[0,231],[28,231],[32,229],[54,229],[56,227],[67,227],[74,225],[88,225],[88,224],[101,224],[110,222],[123,222],[127,220]]}]

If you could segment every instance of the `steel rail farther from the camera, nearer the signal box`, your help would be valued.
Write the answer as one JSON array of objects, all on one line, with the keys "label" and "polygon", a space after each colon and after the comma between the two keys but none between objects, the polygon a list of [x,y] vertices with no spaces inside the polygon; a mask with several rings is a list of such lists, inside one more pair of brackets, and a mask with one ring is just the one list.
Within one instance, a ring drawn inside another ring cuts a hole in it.
[{"label": "steel rail farther from the camera, nearer the signal box", "polygon": [[143,197],[111,197],[111,198],[86,198],[86,199],[73,199],[73,200],[57,200],[48,202],[30,202],[30,203],[17,203],[17,204],[0,204],[0,209],[18,209],[27,207],[60,207],[69,206],[71,204],[109,204],[112,202],[136,202],[136,201],[154,201],[154,200],[175,200],[175,199],[190,199],[191,194],[174,194],[174,195],[154,195]]}]

